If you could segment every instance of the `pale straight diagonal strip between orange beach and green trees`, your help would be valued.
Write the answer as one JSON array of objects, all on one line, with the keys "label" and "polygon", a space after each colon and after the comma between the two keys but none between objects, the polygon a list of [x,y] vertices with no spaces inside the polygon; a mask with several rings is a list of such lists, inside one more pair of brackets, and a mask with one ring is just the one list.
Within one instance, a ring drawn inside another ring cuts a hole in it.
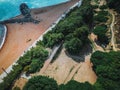
[{"label": "pale straight diagonal strip between orange beach and green trees", "polygon": [[[68,11],[69,9],[71,9],[71,6],[73,7],[76,3],[78,3],[78,1],[79,1],[79,0],[74,0],[74,1],[72,0],[72,1],[70,1],[70,2],[72,3],[72,5],[69,6],[69,8],[67,9],[67,11]],[[68,2],[68,3],[70,3],[70,2]],[[74,3],[73,3],[73,2],[74,2]],[[67,4],[67,3],[66,3],[66,4]],[[62,4],[62,5],[63,5],[63,4]],[[60,6],[60,5],[57,5],[57,6]],[[52,7],[52,8],[53,8],[53,7]],[[55,7],[54,7],[54,8],[55,8]],[[62,10],[62,14],[61,14],[60,16],[58,16],[58,18],[54,21],[55,24],[57,24],[57,23],[61,20],[62,15],[64,14],[64,12],[66,12],[66,9],[65,9],[65,10]],[[68,12],[67,12],[67,13],[68,13]],[[66,13],[66,14],[67,14],[67,13]],[[40,23],[41,23],[41,22],[40,22]],[[39,24],[38,24],[38,25],[39,25]],[[52,26],[51,26],[51,25],[52,25]],[[35,46],[36,43],[37,43],[37,41],[38,41],[38,40],[41,40],[41,39],[42,39],[42,36],[43,36],[48,30],[50,30],[51,28],[55,27],[55,25],[53,25],[53,22],[52,22],[51,25],[48,26],[48,28],[46,28],[46,30],[45,30],[43,33],[41,33],[41,35],[39,35],[39,37],[38,37],[36,40],[34,40],[34,42],[31,43],[31,45],[30,45],[28,48],[26,48],[20,56],[24,55],[24,53],[25,53],[26,51],[28,51],[31,47]],[[20,57],[20,56],[19,56],[19,57]],[[14,63],[13,63],[12,65],[15,64],[15,62],[19,59],[19,57],[14,60]],[[9,66],[7,69],[11,68],[12,65]],[[6,70],[7,70],[7,69],[6,69]],[[9,71],[10,71],[10,70],[9,70]],[[3,78],[3,76],[5,77],[5,73],[2,73],[2,74],[1,74],[0,80],[1,80],[1,77]]]}]

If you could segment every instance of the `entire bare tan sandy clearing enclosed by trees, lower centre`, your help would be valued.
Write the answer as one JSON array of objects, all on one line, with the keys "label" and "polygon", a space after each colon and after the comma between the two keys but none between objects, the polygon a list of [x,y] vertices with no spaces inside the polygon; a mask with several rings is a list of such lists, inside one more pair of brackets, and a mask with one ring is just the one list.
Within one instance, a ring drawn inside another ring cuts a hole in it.
[{"label": "entire bare tan sandy clearing enclosed by trees, lower centre", "polygon": [[51,63],[44,73],[34,75],[45,75],[54,78],[58,84],[67,83],[71,79],[78,82],[96,82],[97,76],[92,70],[90,55],[86,56],[85,62],[78,63],[68,57],[63,49],[59,57]]}]

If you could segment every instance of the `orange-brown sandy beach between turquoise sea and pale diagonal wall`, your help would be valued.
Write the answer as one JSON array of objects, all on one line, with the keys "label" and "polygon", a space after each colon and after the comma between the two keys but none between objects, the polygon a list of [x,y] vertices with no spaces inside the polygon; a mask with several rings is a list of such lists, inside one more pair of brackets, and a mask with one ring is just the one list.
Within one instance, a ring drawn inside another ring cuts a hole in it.
[{"label": "orange-brown sandy beach between turquoise sea and pale diagonal wall", "polygon": [[0,50],[0,74],[7,69],[20,55],[34,43],[66,10],[79,0],[52,7],[32,10],[32,16],[40,19],[39,24],[7,24],[8,33],[5,44]]}]

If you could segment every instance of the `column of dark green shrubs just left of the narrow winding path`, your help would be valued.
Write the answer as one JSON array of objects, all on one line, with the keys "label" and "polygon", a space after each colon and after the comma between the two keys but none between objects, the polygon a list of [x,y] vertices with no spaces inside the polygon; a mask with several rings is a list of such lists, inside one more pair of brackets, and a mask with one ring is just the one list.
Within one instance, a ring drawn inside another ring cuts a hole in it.
[{"label": "column of dark green shrubs just left of the narrow winding path", "polygon": [[92,32],[97,35],[97,42],[101,46],[107,46],[109,44],[109,38],[107,36],[108,28],[107,21],[109,19],[108,6],[106,4],[99,5],[99,0],[96,0],[94,8],[94,20]]}]

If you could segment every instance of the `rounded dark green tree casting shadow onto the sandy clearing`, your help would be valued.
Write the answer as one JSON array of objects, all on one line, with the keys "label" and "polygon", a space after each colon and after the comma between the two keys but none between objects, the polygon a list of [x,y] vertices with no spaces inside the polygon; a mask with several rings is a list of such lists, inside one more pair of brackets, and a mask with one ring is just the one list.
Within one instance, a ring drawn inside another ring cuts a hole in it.
[{"label": "rounded dark green tree casting shadow onto the sandy clearing", "polygon": [[82,47],[88,43],[88,27],[77,28],[72,34],[66,36],[65,48],[71,54],[78,54]]}]

